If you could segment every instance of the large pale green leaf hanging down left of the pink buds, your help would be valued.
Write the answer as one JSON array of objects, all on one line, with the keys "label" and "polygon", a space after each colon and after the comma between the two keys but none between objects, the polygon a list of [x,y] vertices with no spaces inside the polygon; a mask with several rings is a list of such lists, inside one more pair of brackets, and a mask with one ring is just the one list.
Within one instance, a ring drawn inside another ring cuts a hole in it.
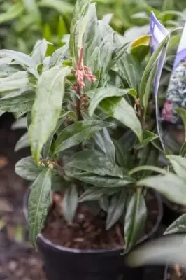
[{"label": "large pale green leaf hanging down left of the pink buds", "polygon": [[31,111],[31,126],[29,127],[31,152],[37,162],[45,141],[55,130],[62,110],[64,78],[70,72],[70,67],[55,66],[43,72],[38,80],[36,99]]}]

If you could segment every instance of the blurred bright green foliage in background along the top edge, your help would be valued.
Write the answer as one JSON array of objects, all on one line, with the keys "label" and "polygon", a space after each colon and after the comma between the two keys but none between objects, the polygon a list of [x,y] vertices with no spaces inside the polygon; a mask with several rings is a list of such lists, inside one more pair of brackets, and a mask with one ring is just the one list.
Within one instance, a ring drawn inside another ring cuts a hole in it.
[{"label": "blurred bright green foliage in background along the top edge", "polygon": [[[151,10],[166,27],[179,27],[186,18],[185,0],[96,2],[99,18],[110,22],[127,41],[148,32]],[[69,34],[74,3],[75,0],[0,0],[0,48],[29,53],[42,37],[55,46],[63,45],[62,38]]]}]

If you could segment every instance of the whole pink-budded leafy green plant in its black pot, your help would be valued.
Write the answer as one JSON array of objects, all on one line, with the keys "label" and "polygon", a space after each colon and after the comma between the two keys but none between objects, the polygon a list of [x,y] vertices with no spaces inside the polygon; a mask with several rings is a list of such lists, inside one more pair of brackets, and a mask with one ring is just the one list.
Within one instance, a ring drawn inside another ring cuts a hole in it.
[{"label": "whole pink-budded leafy green plant in its black pot", "polygon": [[[0,51],[8,71],[17,69],[1,78],[0,110],[27,118],[21,143],[29,139],[32,156],[17,162],[15,172],[34,181],[29,236],[48,279],[60,279],[61,272],[64,279],[138,273],[124,265],[122,253],[152,237],[162,218],[159,195],[143,186],[159,172],[149,167],[159,150],[148,104],[166,39],[145,62],[146,41],[122,45],[97,20],[95,4],[79,0],[69,42],[51,57],[45,40],[30,56]],[[165,193],[157,178],[150,182]],[[171,188],[168,197],[185,204]]]}]

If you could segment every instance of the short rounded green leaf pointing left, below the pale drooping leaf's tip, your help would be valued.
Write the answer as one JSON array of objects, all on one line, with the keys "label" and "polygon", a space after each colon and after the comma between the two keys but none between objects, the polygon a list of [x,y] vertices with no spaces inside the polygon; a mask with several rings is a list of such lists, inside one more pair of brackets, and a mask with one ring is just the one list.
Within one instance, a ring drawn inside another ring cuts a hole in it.
[{"label": "short rounded green leaf pointing left, below the pale drooping leaf's tip", "polygon": [[43,167],[36,165],[35,160],[31,157],[22,158],[15,165],[15,173],[29,181],[36,180],[42,170]]}]

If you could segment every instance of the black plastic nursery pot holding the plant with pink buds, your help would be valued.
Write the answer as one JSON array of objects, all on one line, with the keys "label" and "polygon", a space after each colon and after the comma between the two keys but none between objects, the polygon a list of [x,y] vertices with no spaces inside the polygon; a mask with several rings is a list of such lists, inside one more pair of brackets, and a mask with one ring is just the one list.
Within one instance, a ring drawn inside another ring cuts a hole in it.
[{"label": "black plastic nursery pot holding the plant with pink buds", "polygon": [[[138,245],[155,236],[162,221],[162,198],[154,193],[158,205],[157,221]],[[24,214],[27,218],[29,192],[24,197]],[[131,268],[124,263],[124,249],[79,250],[52,244],[42,234],[38,235],[38,251],[41,253],[48,280],[142,280],[143,267]],[[120,278],[121,277],[121,278]]]}]

